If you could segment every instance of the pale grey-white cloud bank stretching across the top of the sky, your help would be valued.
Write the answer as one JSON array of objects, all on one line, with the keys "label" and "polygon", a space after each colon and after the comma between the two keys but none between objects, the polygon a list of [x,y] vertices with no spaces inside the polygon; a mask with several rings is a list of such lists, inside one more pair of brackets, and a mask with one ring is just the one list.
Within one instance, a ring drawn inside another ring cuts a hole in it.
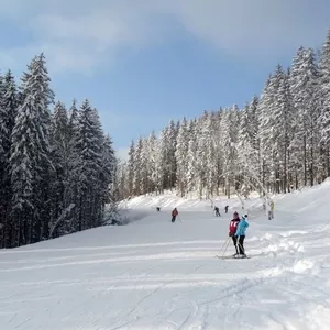
[{"label": "pale grey-white cloud bank stretching across the top of the sky", "polygon": [[28,50],[44,51],[52,70],[91,74],[120,52],[175,37],[178,26],[241,59],[280,55],[323,38],[330,11],[320,1],[11,0],[0,15],[29,29]]}]

